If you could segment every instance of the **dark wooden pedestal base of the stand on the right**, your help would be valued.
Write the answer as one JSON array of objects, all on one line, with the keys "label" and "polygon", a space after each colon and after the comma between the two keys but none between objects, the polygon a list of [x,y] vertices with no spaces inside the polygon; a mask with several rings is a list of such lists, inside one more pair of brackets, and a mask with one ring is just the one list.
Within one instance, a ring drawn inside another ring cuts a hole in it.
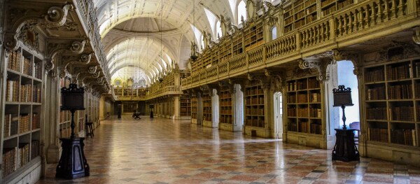
[{"label": "dark wooden pedestal base of the stand on the right", "polygon": [[354,129],[335,129],[336,141],[332,150],[332,160],[343,162],[359,161],[359,153],[354,143]]}]

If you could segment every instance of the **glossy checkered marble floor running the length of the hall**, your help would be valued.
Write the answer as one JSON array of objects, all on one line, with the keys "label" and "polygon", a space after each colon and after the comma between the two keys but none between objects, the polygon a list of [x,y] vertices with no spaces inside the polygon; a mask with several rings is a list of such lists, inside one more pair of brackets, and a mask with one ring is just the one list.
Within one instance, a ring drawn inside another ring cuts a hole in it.
[{"label": "glossy checkered marble floor running the length of the hall", "polygon": [[335,162],[331,150],[224,132],[189,120],[108,120],[85,141],[90,176],[42,183],[420,183],[420,168],[370,158]]}]

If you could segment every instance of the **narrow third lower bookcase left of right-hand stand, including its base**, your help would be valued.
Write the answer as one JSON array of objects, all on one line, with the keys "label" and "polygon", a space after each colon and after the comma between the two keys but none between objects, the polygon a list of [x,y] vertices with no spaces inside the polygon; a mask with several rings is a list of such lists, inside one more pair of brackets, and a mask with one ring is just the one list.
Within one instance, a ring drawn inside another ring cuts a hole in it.
[{"label": "narrow third lower bookcase left of right-hand stand, including its base", "polygon": [[228,89],[218,92],[219,96],[219,123],[220,128],[233,132],[233,111],[232,111],[232,94]]}]

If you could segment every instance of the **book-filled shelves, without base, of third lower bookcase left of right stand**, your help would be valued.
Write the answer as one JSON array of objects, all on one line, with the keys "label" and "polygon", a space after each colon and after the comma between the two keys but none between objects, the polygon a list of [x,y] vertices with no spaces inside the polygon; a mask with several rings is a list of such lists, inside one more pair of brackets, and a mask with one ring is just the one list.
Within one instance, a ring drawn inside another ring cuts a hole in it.
[{"label": "book-filled shelves, without base, of third lower bookcase left of right stand", "polygon": [[219,122],[232,124],[232,94],[228,90],[219,92]]}]

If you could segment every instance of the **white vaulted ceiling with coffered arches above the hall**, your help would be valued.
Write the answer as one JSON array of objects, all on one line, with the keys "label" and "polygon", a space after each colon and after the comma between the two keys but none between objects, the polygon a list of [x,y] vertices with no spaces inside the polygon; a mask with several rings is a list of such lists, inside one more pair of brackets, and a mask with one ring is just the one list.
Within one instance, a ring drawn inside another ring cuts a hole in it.
[{"label": "white vaulted ceiling with coffered arches above the hall", "polygon": [[153,83],[175,63],[186,69],[195,35],[191,25],[217,37],[204,8],[235,20],[231,6],[239,1],[94,0],[112,78],[144,78]]}]

